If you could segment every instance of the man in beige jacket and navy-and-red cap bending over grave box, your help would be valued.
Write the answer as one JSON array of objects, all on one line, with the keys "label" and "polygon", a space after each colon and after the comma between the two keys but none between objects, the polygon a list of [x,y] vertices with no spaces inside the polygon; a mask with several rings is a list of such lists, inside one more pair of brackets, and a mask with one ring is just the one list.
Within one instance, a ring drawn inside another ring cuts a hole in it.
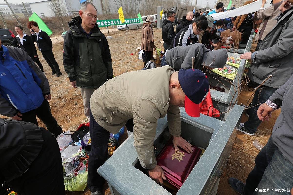
[{"label": "man in beige jacket and navy-and-red cap bending over grave box", "polygon": [[[199,117],[199,103],[209,91],[207,76],[197,69],[174,71],[171,66],[124,73],[108,80],[98,88],[90,100],[91,153],[88,161],[88,185],[97,191],[104,184],[97,169],[108,157],[110,132],[115,134],[125,123],[133,120],[134,147],[149,176],[163,183],[165,175],[156,164],[154,138],[157,120],[167,115],[174,148],[188,153],[191,144],[181,134],[179,106],[188,115]],[[128,122],[129,123],[129,122]]]}]

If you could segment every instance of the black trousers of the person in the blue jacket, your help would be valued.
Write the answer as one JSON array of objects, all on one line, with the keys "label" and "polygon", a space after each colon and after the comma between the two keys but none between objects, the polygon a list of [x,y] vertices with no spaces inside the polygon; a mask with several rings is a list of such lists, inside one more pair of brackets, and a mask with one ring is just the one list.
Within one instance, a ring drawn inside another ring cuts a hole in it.
[{"label": "black trousers of the person in the blue jacket", "polygon": [[63,132],[62,128],[58,125],[57,120],[52,116],[49,102],[45,99],[39,108],[21,114],[22,116],[19,117],[22,118],[22,121],[32,122],[38,125],[36,118],[37,115],[37,117],[46,125],[47,130],[55,134],[55,136]]}]

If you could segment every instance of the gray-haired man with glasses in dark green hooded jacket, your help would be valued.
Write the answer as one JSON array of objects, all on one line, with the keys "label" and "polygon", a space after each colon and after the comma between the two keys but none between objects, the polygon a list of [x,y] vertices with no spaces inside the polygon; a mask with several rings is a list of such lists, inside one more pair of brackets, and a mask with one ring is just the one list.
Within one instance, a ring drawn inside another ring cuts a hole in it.
[{"label": "gray-haired man with glasses in dark green hooded jacket", "polygon": [[68,23],[64,36],[63,65],[72,87],[80,87],[84,114],[89,119],[91,94],[113,78],[108,41],[96,23],[97,9],[82,2],[79,15]]}]

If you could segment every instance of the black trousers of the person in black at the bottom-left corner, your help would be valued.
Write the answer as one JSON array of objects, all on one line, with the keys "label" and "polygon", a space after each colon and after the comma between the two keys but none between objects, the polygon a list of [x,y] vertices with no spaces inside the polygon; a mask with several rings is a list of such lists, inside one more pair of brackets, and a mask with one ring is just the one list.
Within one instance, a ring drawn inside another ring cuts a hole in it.
[{"label": "black trousers of the person in black at the bottom-left corner", "polygon": [[[43,146],[28,170],[8,184],[20,195],[64,195],[63,168],[57,140],[42,129]],[[32,146],[33,147],[33,146]]]}]

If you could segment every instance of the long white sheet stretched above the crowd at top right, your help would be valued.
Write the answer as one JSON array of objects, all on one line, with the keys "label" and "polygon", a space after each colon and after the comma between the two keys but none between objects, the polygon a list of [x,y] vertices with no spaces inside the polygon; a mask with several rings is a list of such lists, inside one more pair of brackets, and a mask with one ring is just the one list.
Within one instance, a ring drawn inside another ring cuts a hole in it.
[{"label": "long white sheet stretched above the crowd at top right", "polygon": [[[270,5],[272,5],[272,4],[270,4],[271,1],[272,0],[267,0],[267,2],[265,2],[264,8],[267,8]],[[212,14],[210,14],[210,16],[212,16],[214,18],[214,20],[220,20],[220,19],[224,19],[224,18],[232,18],[234,16],[239,16],[239,15],[244,15],[244,14],[256,12],[259,10],[261,4],[262,4],[262,0],[258,0],[258,1],[247,4],[245,6],[241,6],[239,8],[234,9],[234,10],[231,10],[231,11],[212,13]]]}]

